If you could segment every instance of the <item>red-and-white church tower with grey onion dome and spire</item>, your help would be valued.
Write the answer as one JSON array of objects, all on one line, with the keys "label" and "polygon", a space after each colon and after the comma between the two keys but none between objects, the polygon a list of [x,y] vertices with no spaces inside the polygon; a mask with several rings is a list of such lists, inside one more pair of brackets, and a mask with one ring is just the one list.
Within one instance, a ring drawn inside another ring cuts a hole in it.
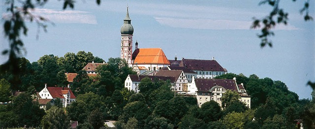
[{"label": "red-and-white church tower with grey onion dome and spire", "polygon": [[128,65],[131,66],[133,27],[131,25],[131,19],[129,18],[128,6],[126,18],[124,19],[124,25],[120,29],[120,32],[122,35],[120,58],[126,59]]}]

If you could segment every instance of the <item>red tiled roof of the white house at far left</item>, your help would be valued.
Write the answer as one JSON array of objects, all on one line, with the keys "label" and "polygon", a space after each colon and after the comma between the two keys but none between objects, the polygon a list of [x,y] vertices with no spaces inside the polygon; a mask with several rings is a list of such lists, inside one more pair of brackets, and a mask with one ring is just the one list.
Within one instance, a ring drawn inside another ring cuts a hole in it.
[{"label": "red tiled roof of the white house at far left", "polygon": [[63,90],[68,90],[70,92],[70,99],[75,99],[76,97],[68,87],[47,87],[49,93],[53,98],[62,98],[63,97]]}]

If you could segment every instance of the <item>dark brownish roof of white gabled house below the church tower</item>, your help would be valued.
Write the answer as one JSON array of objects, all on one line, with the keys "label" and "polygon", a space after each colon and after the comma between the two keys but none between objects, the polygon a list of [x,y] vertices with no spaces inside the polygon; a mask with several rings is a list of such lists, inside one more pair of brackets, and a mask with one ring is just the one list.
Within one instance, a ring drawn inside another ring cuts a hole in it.
[{"label": "dark brownish roof of white gabled house below the church tower", "polygon": [[175,77],[165,77],[165,76],[148,76],[148,75],[129,75],[130,79],[132,81],[136,81],[136,82],[140,82],[141,79],[145,78],[145,77],[149,77],[152,81],[155,79],[158,80],[171,80],[171,82],[175,82],[177,80],[177,78],[175,79]]}]

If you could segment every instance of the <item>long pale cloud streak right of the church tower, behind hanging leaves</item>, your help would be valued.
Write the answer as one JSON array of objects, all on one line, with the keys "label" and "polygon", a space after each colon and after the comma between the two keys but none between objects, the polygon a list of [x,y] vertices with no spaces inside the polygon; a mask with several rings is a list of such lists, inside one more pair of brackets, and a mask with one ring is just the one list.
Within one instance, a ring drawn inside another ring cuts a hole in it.
[{"label": "long pale cloud streak right of the church tower, behind hanging leaves", "polygon": [[[155,17],[159,24],[171,27],[194,29],[250,29],[252,21],[213,20],[213,19],[183,19]],[[276,26],[275,30],[297,30],[291,25]]]}]

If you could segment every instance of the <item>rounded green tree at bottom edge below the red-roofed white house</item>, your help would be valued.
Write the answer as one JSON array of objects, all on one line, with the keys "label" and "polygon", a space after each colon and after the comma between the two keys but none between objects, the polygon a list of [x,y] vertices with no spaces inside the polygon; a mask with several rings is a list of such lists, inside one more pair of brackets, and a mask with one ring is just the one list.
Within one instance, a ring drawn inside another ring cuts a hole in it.
[{"label": "rounded green tree at bottom edge below the red-roofed white house", "polygon": [[41,120],[41,126],[43,129],[68,129],[70,120],[63,108],[53,106],[47,110],[46,115]]}]

